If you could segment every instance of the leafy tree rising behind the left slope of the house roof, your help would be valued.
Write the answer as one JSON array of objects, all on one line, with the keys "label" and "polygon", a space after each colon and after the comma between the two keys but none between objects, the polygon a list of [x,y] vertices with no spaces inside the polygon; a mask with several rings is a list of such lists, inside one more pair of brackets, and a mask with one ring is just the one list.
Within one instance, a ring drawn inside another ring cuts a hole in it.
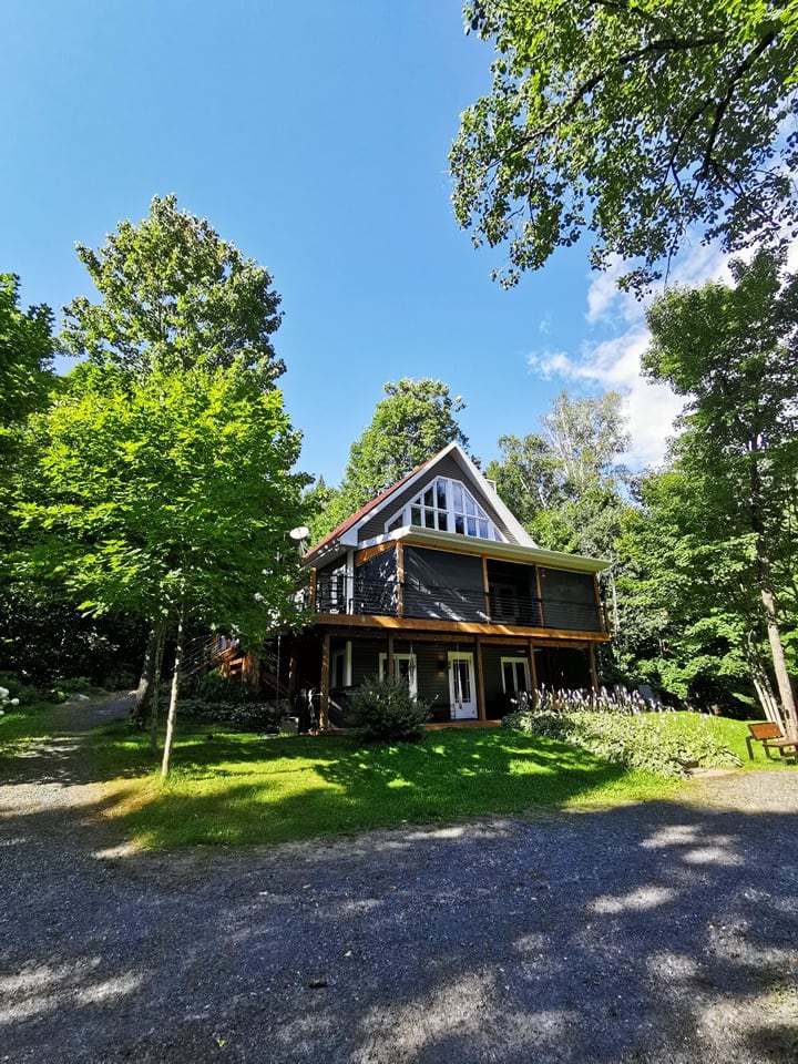
[{"label": "leafy tree rising behind the left slope of the house roof", "polygon": [[[405,377],[382,389],[362,436],[349,449],[340,490],[332,495],[315,531],[325,534],[410,470],[457,441],[468,447],[454,418],[466,405],[449,386],[424,377]],[[329,489],[327,489],[329,490]]]}]

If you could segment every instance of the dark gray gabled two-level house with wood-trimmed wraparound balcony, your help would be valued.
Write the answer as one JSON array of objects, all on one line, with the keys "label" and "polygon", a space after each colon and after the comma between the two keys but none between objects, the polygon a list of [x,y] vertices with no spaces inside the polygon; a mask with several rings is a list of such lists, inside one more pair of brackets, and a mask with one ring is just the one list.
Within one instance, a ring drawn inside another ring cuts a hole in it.
[{"label": "dark gray gabled two-level house with wood-trimmed wraparound balcony", "polygon": [[457,443],[383,491],[304,556],[310,627],[291,687],[321,728],[346,693],[395,676],[433,719],[502,717],[519,692],[595,687],[610,640],[596,574],[607,562],[539,548]]}]

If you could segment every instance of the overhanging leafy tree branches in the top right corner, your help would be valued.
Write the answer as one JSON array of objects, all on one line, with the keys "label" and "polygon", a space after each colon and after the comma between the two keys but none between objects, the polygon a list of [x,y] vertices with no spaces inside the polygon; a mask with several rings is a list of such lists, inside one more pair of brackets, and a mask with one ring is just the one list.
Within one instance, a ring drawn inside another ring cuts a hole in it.
[{"label": "overhanging leafy tree branches in the top right corner", "polygon": [[450,154],[504,285],[590,229],[591,262],[642,290],[690,233],[729,252],[798,222],[798,8],[775,0],[469,0],[491,92]]}]

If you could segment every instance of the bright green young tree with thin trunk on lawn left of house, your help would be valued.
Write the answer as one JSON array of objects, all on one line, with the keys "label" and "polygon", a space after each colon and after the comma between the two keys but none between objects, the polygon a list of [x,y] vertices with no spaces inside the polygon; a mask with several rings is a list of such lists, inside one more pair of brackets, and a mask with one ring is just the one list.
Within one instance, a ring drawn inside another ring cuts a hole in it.
[{"label": "bright green young tree with thin trunk on lawn left of house", "polygon": [[286,535],[303,518],[299,436],[243,358],[152,369],[133,387],[84,365],[69,383],[44,423],[41,499],[22,507],[40,533],[32,565],[84,610],[176,626],[166,774],[186,625],[252,641],[297,616]]}]

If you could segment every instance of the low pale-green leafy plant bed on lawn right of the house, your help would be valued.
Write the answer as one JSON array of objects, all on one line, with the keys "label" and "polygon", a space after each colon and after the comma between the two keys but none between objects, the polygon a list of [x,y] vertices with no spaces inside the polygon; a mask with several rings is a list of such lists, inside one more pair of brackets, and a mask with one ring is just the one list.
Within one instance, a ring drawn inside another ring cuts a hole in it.
[{"label": "low pale-green leafy plant bed on lawn right of the house", "polygon": [[739,767],[740,759],[708,725],[685,727],[682,715],[645,713],[529,713],[505,717],[505,727],[572,743],[596,757],[658,776],[686,775],[689,765]]}]

